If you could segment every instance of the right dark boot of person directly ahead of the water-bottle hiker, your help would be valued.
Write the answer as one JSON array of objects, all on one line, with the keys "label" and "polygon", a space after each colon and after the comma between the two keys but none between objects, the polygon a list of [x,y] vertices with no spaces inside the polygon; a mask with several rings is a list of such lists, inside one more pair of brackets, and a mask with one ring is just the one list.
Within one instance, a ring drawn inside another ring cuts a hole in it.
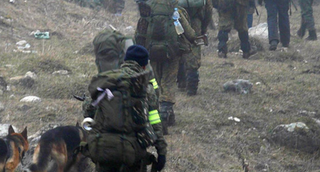
[{"label": "right dark boot of person directly ahead of the water-bottle hiker", "polygon": [[187,95],[194,96],[198,90],[199,73],[197,70],[187,70]]}]

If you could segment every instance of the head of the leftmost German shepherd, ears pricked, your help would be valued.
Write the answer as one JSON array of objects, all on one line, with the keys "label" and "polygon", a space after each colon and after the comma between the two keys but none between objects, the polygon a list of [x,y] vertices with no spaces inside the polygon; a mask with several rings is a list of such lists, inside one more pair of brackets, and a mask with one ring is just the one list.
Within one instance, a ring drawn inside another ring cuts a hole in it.
[{"label": "head of the leftmost German shepherd, ears pricked", "polygon": [[25,153],[29,149],[29,142],[28,142],[28,132],[27,126],[21,133],[16,133],[13,127],[10,125],[8,129],[8,138],[14,141],[15,145],[18,148],[19,157],[22,160],[25,156]]}]

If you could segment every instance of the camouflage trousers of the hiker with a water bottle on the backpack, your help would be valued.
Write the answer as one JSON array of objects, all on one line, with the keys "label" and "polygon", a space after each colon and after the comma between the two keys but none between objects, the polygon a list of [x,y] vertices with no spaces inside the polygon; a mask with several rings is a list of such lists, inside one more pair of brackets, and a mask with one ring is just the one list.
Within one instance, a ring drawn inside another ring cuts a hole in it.
[{"label": "camouflage trousers of the hiker with a water bottle on the backpack", "polygon": [[178,73],[179,58],[151,60],[155,79],[160,85],[159,102],[175,102],[175,82]]}]

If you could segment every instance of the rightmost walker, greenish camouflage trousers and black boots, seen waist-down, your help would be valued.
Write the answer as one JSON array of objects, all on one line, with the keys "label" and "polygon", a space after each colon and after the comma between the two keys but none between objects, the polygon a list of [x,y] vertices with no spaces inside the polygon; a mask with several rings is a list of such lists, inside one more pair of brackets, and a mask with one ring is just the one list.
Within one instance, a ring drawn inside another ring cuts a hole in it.
[{"label": "rightmost walker, greenish camouflage trousers and black boots, seen waist-down", "polygon": [[303,38],[305,36],[306,29],[308,29],[309,36],[307,37],[307,40],[317,40],[312,14],[312,4],[313,0],[299,0],[299,5],[301,7],[301,27],[297,31],[297,35]]}]

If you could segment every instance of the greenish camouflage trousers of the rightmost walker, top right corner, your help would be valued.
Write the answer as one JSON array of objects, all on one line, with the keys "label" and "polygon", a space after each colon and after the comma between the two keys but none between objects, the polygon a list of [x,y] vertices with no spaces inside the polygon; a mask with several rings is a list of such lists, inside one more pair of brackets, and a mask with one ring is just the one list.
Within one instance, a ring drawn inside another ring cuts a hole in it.
[{"label": "greenish camouflage trousers of the rightmost walker, top right corner", "polygon": [[301,8],[301,26],[305,26],[308,30],[314,30],[312,4],[313,0],[299,0]]}]

